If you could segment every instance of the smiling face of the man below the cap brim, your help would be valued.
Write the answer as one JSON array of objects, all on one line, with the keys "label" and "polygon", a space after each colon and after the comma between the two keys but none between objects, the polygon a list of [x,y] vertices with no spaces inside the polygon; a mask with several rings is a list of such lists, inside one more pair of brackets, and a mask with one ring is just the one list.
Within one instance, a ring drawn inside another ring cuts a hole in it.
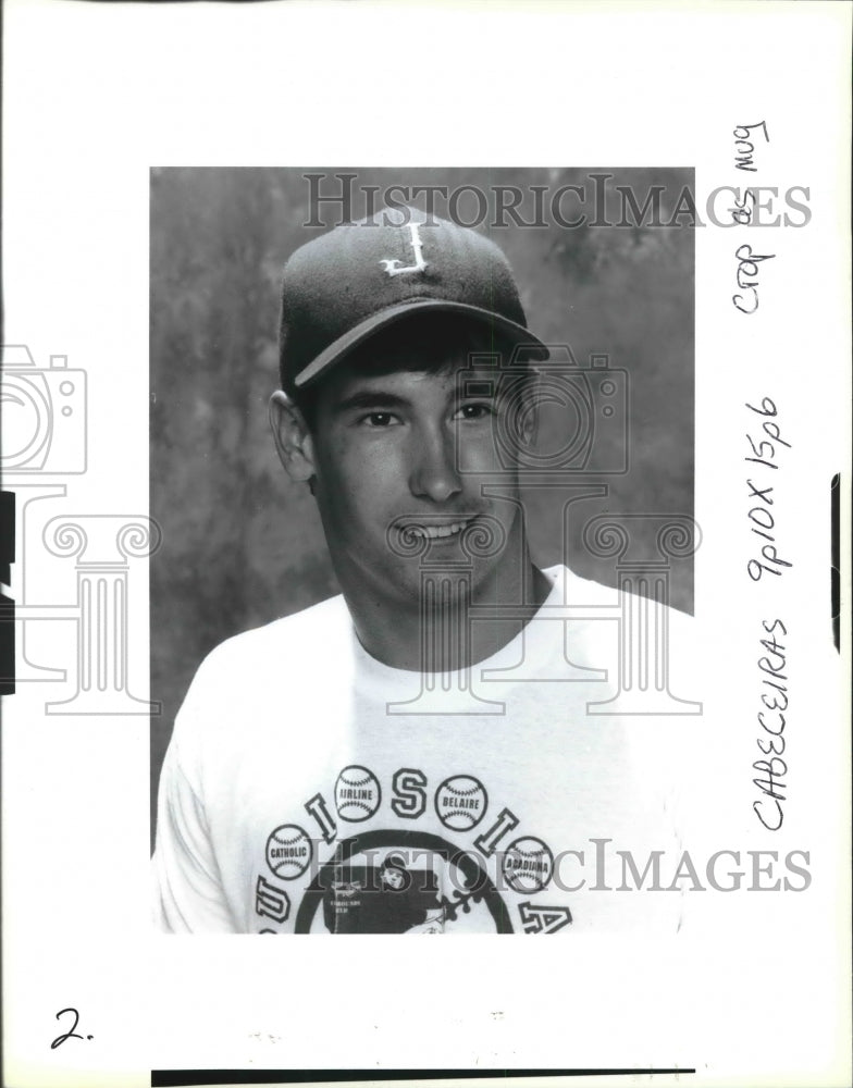
[{"label": "smiling face of the man below the cap brim", "polygon": [[[463,564],[475,591],[520,562],[518,472],[502,466],[496,443],[510,407],[483,392],[495,384],[493,369],[483,382],[458,381],[465,349],[437,362],[371,373],[343,361],[320,391],[316,495],[345,591],[411,604],[424,564]],[[471,385],[479,395],[462,395]],[[472,543],[492,554],[472,557]]]}]

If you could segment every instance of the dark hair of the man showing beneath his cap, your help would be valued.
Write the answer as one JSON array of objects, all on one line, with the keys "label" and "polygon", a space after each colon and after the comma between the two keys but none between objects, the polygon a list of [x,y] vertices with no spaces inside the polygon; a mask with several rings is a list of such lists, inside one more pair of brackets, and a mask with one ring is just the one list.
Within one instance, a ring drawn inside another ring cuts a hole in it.
[{"label": "dark hair of the man showing beneath his cap", "polygon": [[[469,356],[499,354],[502,361],[508,362],[515,347],[515,342],[485,321],[443,311],[421,312],[386,325],[354,348],[346,356],[346,361],[350,370],[361,374],[396,371],[442,373],[454,366],[460,351]],[[317,423],[317,405],[327,381],[327,378],[321,378],[304,390],[285,388],[312,431]]]}]

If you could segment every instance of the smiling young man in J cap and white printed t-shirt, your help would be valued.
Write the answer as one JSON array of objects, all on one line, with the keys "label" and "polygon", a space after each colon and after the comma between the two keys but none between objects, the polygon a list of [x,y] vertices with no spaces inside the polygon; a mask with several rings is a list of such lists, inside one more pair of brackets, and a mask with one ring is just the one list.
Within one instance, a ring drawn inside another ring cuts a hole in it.
[{"label": "smiling young man in J cap and white printed t-shirt", "polygon": [[472,231],[406,209],[290,258],[273,432],[343,595],[200,667],[160,784],[163,929],[676,928],[678,894],[617,894],[617,851],[675,846],[648,716],[608,713],[617,595],[528,548],[547,358]]}]

